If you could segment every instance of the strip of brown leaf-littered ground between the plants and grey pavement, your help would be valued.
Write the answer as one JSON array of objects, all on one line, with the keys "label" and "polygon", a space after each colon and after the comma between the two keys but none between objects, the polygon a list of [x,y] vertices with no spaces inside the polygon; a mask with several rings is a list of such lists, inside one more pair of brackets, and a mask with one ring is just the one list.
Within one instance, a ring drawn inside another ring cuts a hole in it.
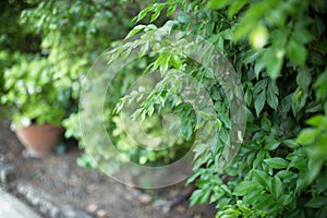
[{"label": "strip of brown leaf-littered ground between the plants and grey pavement", "polygon": [[214,217],[209,205],[187,207],[183,184],[143,190],[124,186],[95,170],[76,165],[76,147],[63,155],[44,159],[23,156],[23,146],[0,122],[1,183],[8,191],[26,201],[43,217],[114,217],[183,218]]}]

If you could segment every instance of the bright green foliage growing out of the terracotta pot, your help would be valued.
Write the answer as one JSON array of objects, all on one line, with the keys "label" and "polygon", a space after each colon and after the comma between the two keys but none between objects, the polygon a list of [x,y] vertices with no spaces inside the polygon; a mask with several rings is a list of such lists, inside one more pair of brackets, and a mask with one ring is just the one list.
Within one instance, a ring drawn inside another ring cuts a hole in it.
[{"label": "bright green foliage growing out of the terracotta pot", "polygon": [[61,125],[71,110],[72,82],[60,75],[46,58],[19,56],[16,64],[4,72],[1,105],[16,128],[31,123]]}]

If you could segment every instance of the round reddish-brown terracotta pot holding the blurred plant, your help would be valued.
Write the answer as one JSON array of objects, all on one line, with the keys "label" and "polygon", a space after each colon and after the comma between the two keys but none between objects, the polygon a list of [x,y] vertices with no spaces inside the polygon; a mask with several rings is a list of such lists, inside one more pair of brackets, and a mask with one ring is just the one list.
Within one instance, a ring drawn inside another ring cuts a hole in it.
[{"label": "round reddish-brown terracotta pot holding the blurred plant", "polygon": [[33,157],[44,157],[52,153],[62,132],[62,128],[50,124],[32,124],[15,131],[17,138],[27,148],[27,155]]}]

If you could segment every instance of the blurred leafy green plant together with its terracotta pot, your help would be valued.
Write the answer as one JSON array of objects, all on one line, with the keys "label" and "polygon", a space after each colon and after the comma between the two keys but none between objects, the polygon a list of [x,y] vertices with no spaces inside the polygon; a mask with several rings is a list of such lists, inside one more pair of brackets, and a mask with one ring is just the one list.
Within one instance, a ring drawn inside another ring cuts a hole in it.
[{"label": "blurred leafy green plant together with its terracotta pot", "polygon": [[12,120],[12,130],[27,148],[25,154],[43,157],[51,153],[63,132],[61,122],[71,109],[72,81],[40,56],[22,56],[3,77],[1,104]]}]

